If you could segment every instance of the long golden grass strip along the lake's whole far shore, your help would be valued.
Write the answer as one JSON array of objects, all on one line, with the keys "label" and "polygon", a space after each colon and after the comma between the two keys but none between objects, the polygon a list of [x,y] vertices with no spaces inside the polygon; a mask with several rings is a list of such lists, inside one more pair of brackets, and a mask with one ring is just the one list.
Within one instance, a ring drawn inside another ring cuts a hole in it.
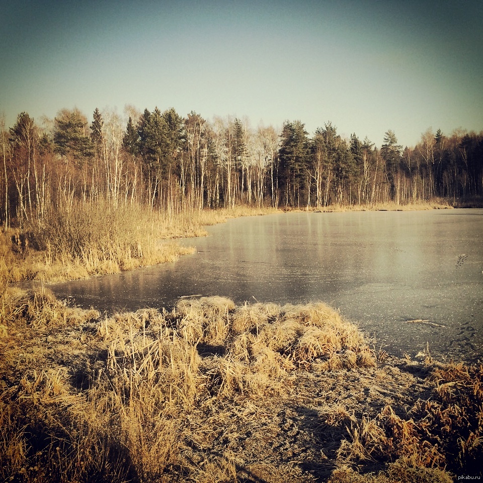
[{"label": "long golden grass strip along the lake's whole far shore", "polygon": [[[103,206],[95,208],[103,210]],[[33,247],[37,244],[35,239],[30,240],[33,234],[22,234],[18,230],[9,229],[7,232],[2,231],[0,236],[0,254],[3,255],[5,266],[0,266],[0,282],[3,284],[17,284],[22,282],[37,281],[43,283],[60,283],[63,281],[74,281],[91,278],[97,275],[107,275],[129,271],[143,266],[158,265],[164,262],[176,261],[179,257],[192,253],[193,247],[186,248],[176,243],[177,238],[192,238],[203,236],[206,234],[203,226],[223,223],[229,218],[241,216],[256,216],[271,213],[284,212],[341,212],[341,211],[367,211],[367,210],[390,210],[390,211],[407,211],[407,210],[429,210],[429,209],[453,209],[452,206],[443,202],[428,202],[409,205],[395,205],[390,203],[387,205],[354,205],[354,206],[328,206],[326,208],[271,208],[271,207],[244,207],[237,206],[233,209],[219,210],[203,210],[194,213],[180,213],[177,218],[171,220],[170,223],[164,218],[159,218],[159,213],[148,213],[138,211],[138,207],[134,207],[134,213],[129,210],[125,214],[121,214],[119,223],[126,226],[126,233],[116,232],[112,236],[106,238],[106,223],[114,223],[107,221],[109,217],[116,217],[107,210],[107,214],[96,214],[96,216],[105,216],[106,222],[99,224],[96,218],[96,226],[91,228],[93,234],[88,239],[76,241],[76,244],[84,247],[80,254],[74,253],[71,248],[63,247],[62,242],[57,247],[57,252],[52,252],[52,248],[46,250],[35,250]],[[89,211],[79,211],[76,216],[84,216],[83,226],[88,222]],[[132,217],[139,216],[144,218],[140,222],[140,227],[136,232],[130,233]],[[65,215],[64,215],[65,216]],[[151,218],[151,219],[150,219]],[[158,221],[156,221],[156,219]],[[117,223],[117,222],[116,222]],[[116,224],[114,223],[114,224]],[[97,235],[100,239],[96,240]],[[37,236],[37,235],[35,235]],[[48,236],[61,240],[65,237],[60,232],[43,233],[42,237],[47,240]],[[70,235],[69,235],[70,236]],[[47,238],[46,238],[47,237]],[[119,237],[119,242],[115,237]],[[106,238],[102,242],[102,238]],[[122,239],[126,238],[126,239]],[[137,240],[137,241],[136,241]],[[95,245],[93,245],[95,241]],[[102,243],[107,244],[107,247]],[[84,245],[85,246],[84,246]],[[91,244],[91,245],[90,245]],[[162,245],[162,250],[159,245]],[[77,246],[76,245],[76,246]],[[98,246],[99,245],[99,246]],[[108,250],[106,252],[106,250]]]}]

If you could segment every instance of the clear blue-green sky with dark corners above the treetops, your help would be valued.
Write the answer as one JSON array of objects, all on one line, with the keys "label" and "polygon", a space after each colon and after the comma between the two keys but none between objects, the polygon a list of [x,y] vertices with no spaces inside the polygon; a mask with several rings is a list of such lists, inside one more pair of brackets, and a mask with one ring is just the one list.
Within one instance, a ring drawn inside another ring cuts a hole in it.
[{"label": "clear blue-green sky with dark corners above the treetops", "polygon": [[483,129],[483,2],[0,0],[0,114],[174,107],[377,146]]}]

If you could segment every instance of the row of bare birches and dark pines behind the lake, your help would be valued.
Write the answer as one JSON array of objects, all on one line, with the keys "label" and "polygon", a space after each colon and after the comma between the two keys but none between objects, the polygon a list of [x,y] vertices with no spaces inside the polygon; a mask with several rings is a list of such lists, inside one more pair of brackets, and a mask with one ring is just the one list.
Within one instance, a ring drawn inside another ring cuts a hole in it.
[{"label": "row of bare birches and dark pines behind the lake", "polygon": [[[131,109],[131,111],[134,111]],[[99,199],[151,210],[234,206],[326,207],[483,195],[483,131],[428,129],[415,147],[392,130],[380,148],[331,122],[310,137],[286,121],[252,128],[238,118],[205,120],[171,108],[132,112],[60,111],[50,126],[28,113],[0,120],[2,225],[42,224],[49,210]]]}]

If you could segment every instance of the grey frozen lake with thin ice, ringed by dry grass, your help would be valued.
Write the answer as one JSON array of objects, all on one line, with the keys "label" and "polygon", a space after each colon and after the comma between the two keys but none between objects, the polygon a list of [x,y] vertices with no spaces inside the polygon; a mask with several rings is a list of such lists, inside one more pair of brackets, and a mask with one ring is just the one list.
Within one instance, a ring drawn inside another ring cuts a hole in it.
[{"label": "grey frozen lake with thin ice, ringed by dry grass", "polygon": [[[483,349],[483,210],[284,213],[210,226],[179,261],[52,286],[112,312],[187,295],[324,301],[394,355],[476,361]],[[427,324],[407,324],[424,319]]]}]

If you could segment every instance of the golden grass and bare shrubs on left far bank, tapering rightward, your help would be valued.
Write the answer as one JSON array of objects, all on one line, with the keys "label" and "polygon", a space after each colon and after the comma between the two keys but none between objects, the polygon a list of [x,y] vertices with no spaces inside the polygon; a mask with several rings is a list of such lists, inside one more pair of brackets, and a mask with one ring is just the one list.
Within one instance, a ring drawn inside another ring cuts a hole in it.
[{"label": "golden grass and bare shrubs on left far bank, tapering rightward", "polygon": [[[23,280],[57,282],[172,262],[192,253],[176,238],[204,236],[203,225],[273,209],[235,207],[165,213],[137,204],[76,202],[51,210],[21,232],[0,232],[0,286]],[[35,220],[35,216],[32,217]]]}]

